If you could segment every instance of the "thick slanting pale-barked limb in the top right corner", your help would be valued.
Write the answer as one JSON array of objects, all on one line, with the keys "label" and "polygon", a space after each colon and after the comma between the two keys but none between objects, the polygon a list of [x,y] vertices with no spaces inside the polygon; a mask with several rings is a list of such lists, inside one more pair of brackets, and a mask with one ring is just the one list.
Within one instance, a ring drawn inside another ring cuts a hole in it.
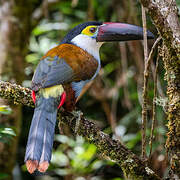
[{"label": "thick slanting pale-barked limb in the top right corner", "polygon": [[176,1],[140,0],[148,11],[158,32],[168,48],[174,49],[180,58],[180,22]]}]

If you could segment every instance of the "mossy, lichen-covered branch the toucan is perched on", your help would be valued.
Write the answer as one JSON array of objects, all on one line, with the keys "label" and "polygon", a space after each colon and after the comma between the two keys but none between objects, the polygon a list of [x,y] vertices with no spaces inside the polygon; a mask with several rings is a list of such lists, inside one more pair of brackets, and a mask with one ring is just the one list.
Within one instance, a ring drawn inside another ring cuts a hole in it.
[{"label": "mossy, lichen-covered branch the toucan is perched on", "polygon": [[[0,81],[0,97],[8,99],[15,104],[23,104],[34,107],[31,99],[31,90],[9,82]],[[107,134],[100,131],[95,123],[88,121],[80,112],[78,128],[76,122],[78,115],[66,111],[58,112],[58,119],[67,124],[76,135],[81,135],[90,143],[97,146],[99,153],[105,159],[110,159],[119,164],[128,179],[151,179],[160,178],[149,167],[118,140],[111,139]]]}]

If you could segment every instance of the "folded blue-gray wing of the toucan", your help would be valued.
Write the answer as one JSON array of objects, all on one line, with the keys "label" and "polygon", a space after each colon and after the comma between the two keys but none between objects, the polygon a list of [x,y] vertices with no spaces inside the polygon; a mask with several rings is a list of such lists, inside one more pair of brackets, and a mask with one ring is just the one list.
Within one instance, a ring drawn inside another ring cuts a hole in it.
[{"label": "folded blue-gray wing of the toucan", "polygon": [[68,83],[75,78],[72,68],[58,56],[46,57],[38,64],[32,79],[32,90],[38,91],[58,84]]}]

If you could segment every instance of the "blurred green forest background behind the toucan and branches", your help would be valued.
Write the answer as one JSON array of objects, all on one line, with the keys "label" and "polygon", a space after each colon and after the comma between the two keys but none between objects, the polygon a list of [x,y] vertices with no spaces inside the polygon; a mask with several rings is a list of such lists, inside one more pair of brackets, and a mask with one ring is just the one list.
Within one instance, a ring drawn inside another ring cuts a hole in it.
[{"label": "blurred green forest background behind the toucan and branches", "polygon": [[[58,45],[63,36],[74,26],[85,21],[118,21],[142,26],[141,5],[137,0],[33,0],[38,16],[28,38],[28,51],[24,58],[24,79],[22,85],[30,87],[33,72],[40,58],[52,47]],[[180,1],[177,1],[180,8]],[[29,7],[31,8],[31,7]],[[28,7],[26,7],[26,10]],[[23,14],[21,14],[23,16]],[[147,27],[157,36],[156,29],[149,17]],[[148,41],[149,49],[153,40]],[[112,138],[123,142],[135,154],[141,154],[141,104],[143,85],[143,42],[131,41],[107,43],[100,50],[102,69],[99,76],[85,88],[85,94],[77,103],[84,115],[95,122]],[[153,76],[157,51],[151,64],[148,85],[148,123],[147,140],[150,136]],[[18,73],[18,72],[17,72]],[[153,153],[150,166],[161,177],[166,175],[167,164],[164,144],[166,139],[166,82],[164,81],[163,62],[159,61],[158,96],[156,98],[156,127],[153,141]],[[9,80],[7,75],[2,79]],[[9,106],[1,106],[2,118],[13,113]],[[93,144],[82,137],[59,134],[56,128],[55,143],[51,165],[45,176],[40,173],[30,175],[24,165],[24,154],[33,109],[22,108],[21,131],[18,135],[18,148],[15,154],[13,179],[15,180],[123,180],[118,165],[104,160],[98,155]],[[16,135],[16,126],[0,125],[0,141],[11,146]],[[147,145],[147,154],[150,147]],[[0,179],[9,174],[1,172]]]}]

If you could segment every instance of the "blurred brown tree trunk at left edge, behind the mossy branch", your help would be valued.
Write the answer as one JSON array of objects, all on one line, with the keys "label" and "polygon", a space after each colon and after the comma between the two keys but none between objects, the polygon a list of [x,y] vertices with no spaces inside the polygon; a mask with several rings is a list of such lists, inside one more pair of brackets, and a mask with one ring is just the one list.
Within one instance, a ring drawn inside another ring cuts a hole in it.
[{"label": "blurred brown tree trunk at left edge, behind the mossy branch", "polygon": [[[24,0],[0,1],[0,79],[18,84],[24,80],[24,57],[32,30],[32,4]],[[5,104],[8,102],[0,99],[0,105]],[[1,125],[12,126],[16,132],[10,144],[0,143],[0,172],[8,174],[7,179],[12,179],[21,127],[21,106],[10,106],[13,110],[11,115],[0,115]]]}]

